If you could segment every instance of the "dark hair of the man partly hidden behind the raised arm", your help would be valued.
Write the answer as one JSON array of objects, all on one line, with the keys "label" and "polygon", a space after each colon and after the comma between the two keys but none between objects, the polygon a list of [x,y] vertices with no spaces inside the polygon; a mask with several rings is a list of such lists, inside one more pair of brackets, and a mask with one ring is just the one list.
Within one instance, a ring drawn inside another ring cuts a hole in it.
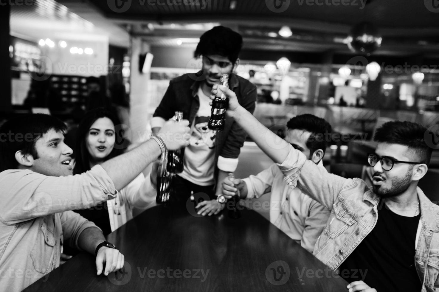
[{"label": "dark hair of the man partly hidden behind the raised arm", "polygon": [[332,127],[325,119],[311,114],[297,115],[288,121],[287,127],[291,130],[311,132],[308,141],[306,141],[306,147],[309,148],[310,155],[317,149],[322,149],[323,153],[326,152],[326,147],[329,144],[327,137],[332,132]]}]

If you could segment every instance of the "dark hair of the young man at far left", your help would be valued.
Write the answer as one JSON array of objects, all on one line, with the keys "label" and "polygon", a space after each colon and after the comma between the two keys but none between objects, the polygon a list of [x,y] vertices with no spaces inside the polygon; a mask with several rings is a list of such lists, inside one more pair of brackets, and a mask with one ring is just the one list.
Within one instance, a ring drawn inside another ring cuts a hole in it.
[{"label": "dark hair of the young man at far left", "polygon": [[58,118],[46,114],[24,115],[4,123],[0,127],[0,172],[18,168],[15,159],[17,151],[37,159],[35,142],[52,129],[64,134],[67,126]]}]

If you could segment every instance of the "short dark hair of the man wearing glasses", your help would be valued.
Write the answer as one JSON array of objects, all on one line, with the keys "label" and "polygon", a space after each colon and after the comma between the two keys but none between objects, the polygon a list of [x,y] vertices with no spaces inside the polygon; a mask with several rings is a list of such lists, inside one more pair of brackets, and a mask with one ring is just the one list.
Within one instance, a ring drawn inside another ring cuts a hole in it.
[{"label": "short dark hair of the man wearing glasses", "polygon": [[428,165],[432,157],[432,148],[425,143],[425,126],[407,121],[391,121],[377,129],[374,141],[400,144],[414,151],[421,163]]}]

